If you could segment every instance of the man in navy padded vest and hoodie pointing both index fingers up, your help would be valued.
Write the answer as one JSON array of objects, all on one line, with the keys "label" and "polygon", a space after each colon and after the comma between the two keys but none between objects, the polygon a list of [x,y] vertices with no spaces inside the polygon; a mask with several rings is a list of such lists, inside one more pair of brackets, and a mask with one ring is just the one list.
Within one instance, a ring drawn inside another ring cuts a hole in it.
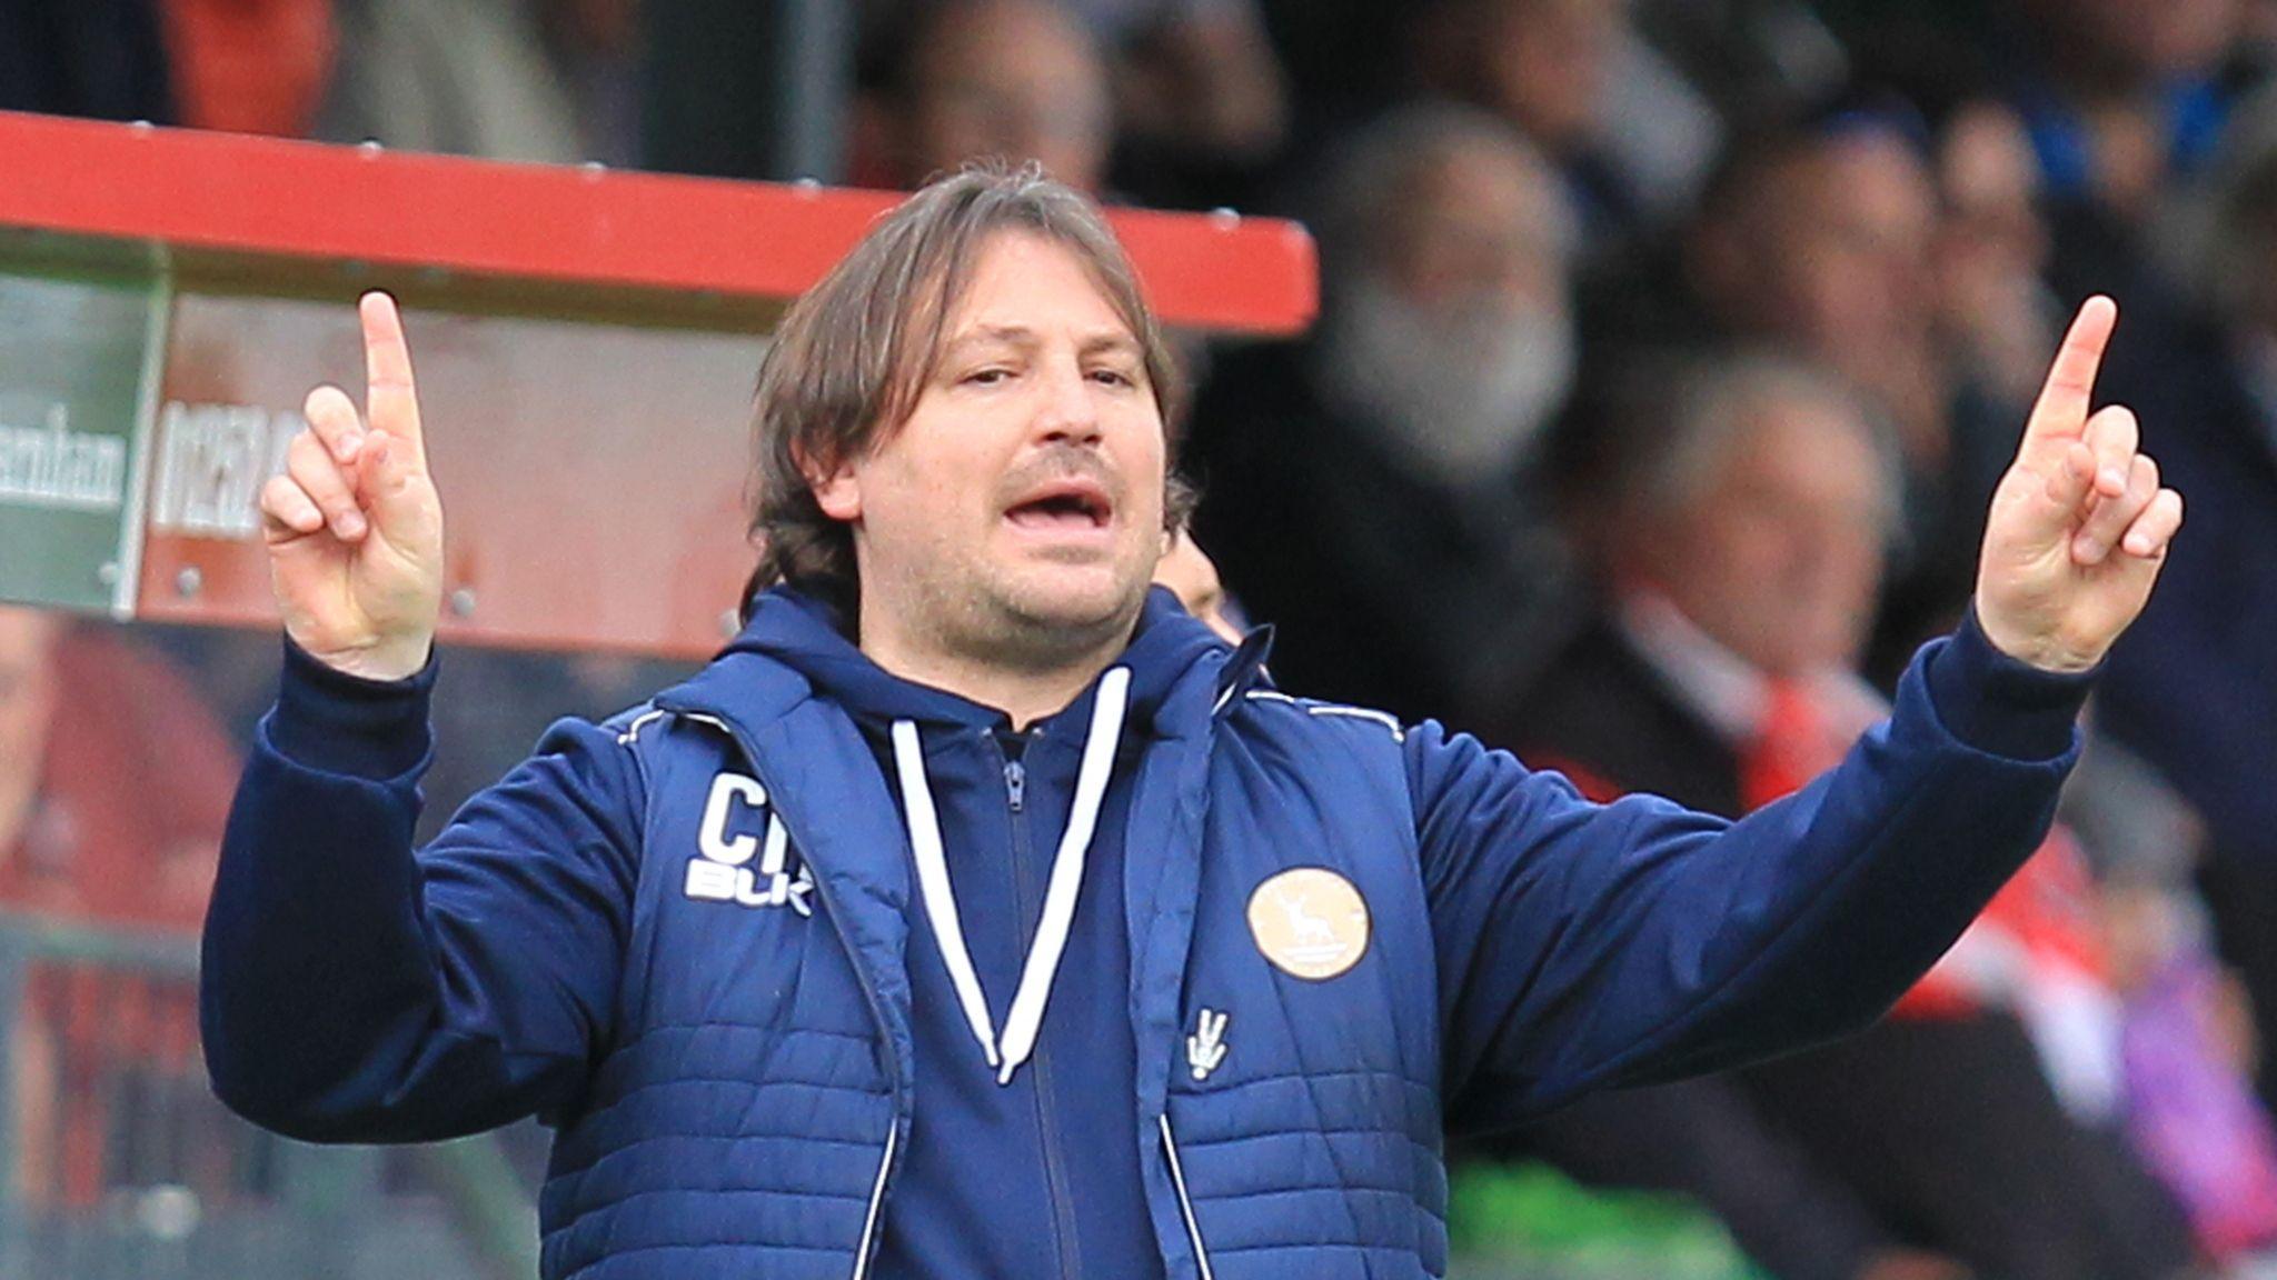
[{"label": "man in navy padded vest and hoodie pointing both index fingers up", "polygon": [[2131,419],[2088,426],[2095,301],[1981,626],[1888,729],[1749,822],[1598,809],[1148,594],[1159,333],[1093,205],[970,171],[776,333],[745,633],[414,856],[442,508],[364,323],[367,412],[319,387],[262,497],[291,645],[205,1050],[307,1139],[542,1114],[546,1275],[1439,1273],[1446,1123],[1831,1036],[1929,966],[2179,524]]}]

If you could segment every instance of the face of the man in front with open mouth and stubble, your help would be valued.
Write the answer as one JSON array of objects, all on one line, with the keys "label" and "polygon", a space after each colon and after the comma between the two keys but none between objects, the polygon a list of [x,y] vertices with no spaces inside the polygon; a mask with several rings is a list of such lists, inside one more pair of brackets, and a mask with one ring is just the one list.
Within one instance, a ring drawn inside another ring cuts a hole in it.
[{"label": "face of the man in front with open mouth and stubble", "polygon": [[854,526],[863,633],[1020,663],[1127,633],[1161,558],[1145,353],[1082,260],[997,232],[915,410],[815,487]]}]

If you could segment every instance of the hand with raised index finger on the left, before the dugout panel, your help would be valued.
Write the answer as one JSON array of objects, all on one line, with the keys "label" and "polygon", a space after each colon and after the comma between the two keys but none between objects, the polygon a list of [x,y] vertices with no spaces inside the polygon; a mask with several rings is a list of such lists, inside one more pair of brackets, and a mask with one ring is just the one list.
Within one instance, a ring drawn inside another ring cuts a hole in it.
[{"label": "hand with raised index finger on the left, before the dugout panel", "polygon": [[364,415],[317,387],[285,474],[262,487],[262,535],[285,633],[353,676],[417,674],[442,615],[442,499],[428,478],[403,319],[364,294]]}]

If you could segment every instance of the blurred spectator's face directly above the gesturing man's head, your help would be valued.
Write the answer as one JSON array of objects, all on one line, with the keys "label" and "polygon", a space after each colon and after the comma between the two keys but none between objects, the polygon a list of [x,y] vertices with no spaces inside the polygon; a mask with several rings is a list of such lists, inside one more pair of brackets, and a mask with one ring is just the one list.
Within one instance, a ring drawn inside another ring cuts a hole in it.
[{"label": "blurred spectator's face directly above the gesturing man's head", "polygon": [[1079,191],[1100,187],[1113,134],[1107,68],[1066,14],[1004,0],[934,30],[915,66],[906,180],[995,155],[1041,162]]}]

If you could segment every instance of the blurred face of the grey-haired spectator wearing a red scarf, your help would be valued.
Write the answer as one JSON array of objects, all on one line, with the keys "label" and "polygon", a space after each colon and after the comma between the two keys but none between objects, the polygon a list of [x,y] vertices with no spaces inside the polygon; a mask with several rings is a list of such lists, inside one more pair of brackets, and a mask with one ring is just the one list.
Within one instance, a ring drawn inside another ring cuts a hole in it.
[{"label": "blurred face of the grey-haired spectator wearing a red scarf", "polygon": [[1651,579],[1769,674],[1858,660],[1883,567],[1883,462],[1851,410],[1765,399],[1690,510],[1653,533]]}]

